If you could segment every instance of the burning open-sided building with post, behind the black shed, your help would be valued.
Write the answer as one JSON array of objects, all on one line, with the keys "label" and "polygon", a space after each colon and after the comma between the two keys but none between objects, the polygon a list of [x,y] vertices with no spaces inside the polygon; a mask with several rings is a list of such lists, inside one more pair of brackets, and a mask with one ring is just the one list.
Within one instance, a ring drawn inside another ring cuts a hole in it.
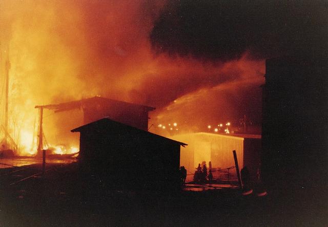
[{"label": "burning open-sided building with post, behind the black shed", "polygon": [[[43,149],[44,133],[42,125],[44,109],[54,110],[55,113],[65,112],[64,115],[59,116],[60,121],[58,121],[58,123],[60,125],[57,126],[61,129],[61,134],[63,135],[67,135],[67,131],[69,131],[68,127],[88,124],[104,117],[109,117],[115,121],[147,131],[149,119],[148,112],[155,109],[154,107],[106,99],[102,97],[93,97],[60,104],[38,105],[35,106],[35,108],[40,109],[38,152]],[[71,124],[69,124],[70,119],[72,120]],[[63,124],[63,122],[65,122],[65,124]],[[60,137],[57,136],[57,138]],[[75,137],[65,136],[65,138],[69,139],[70,143],[76,140]],[[65,143],[65,139],[62,139],[62,141],[64,141],[62,143]]]}]

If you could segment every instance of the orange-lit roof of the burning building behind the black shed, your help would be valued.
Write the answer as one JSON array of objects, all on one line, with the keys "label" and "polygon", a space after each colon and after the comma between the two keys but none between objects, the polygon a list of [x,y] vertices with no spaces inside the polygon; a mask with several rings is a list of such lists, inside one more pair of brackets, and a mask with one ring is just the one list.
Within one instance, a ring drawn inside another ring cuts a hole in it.
[{"label": "orange-lit roof of the burning building behind the black shed", "polygon": [[35,106],[35,108],[43,107],[46,109],[54,109],[55,112],[60,112],[60,111],[66,111],[66,110],[71,110],[71,109],[78,109],[81,107],[93,106],[93,105],[97,105],[97,104],[102,104],[105,106],[116,104],[116,105],[120,105],[120,106],[141,107],[141,108],[144,108],[145,111],[152,111],[155,109],[154,107],[150,107],[150,106],[144,106],[144,105],[139,105],[139,104],[135,104],[135,103],[107,99],[107,98],[98,97],[98,96],[88,98],[88,99],[81,99],[81,100],[66,102],[66,103],[38,105],[38,106]]}]

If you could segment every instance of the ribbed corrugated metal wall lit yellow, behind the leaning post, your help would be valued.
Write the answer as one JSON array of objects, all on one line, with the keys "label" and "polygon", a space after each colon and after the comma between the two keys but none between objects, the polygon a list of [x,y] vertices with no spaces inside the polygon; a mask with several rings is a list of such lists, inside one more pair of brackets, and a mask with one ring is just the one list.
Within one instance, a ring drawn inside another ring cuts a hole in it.
[{"label": "ribbed corrugated metal wall lit yellow, behind the leaning post", "polygon": [[235,166],[233,150],[236,150],[239,168],[243,167],[243,138],[210,133],[197,133],[194,136],[211,143],[212,167],[228,168]]}]

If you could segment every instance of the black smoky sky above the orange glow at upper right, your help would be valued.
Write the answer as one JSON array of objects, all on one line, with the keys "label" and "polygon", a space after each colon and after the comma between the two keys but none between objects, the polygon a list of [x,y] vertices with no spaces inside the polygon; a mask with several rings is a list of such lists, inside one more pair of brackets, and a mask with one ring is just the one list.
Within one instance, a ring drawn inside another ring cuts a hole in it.
[{"label": "black smoky sky above the orange glow at upper right", "polygon": [[327,54],[327,1],[171,0],[150,34],[157,52],[229,61]]}]

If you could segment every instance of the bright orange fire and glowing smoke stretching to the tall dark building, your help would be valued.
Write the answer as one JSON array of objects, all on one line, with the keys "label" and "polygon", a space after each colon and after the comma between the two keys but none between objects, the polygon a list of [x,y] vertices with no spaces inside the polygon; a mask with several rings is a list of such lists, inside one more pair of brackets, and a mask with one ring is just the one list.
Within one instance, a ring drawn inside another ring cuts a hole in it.
[{"label": "bright orange fire and glowing smoke stretching to the tall dark building", "polygon": [[[28,0],[0,5],[1,84],[8,59],[9,133],[20,155],[36,154],[39,113],[34,106],[97,94],[155,106],[150,125],[171,122],[163,127],[176,131],[238,120],[244,112],[237,109],[251,102],[256,109],[251,115],[258,115],[262,60],[244,53],[239,60],[214,63],[154,53],[149,33],[161,1]],[[1,100],[4,109],[4,94]],[[55,154],[77,151],[78,135],[70,129],[82,122],[78,111],[45,111],[45,149],[52,147]],[[163,134],[158,129],[150,130]]]}]

